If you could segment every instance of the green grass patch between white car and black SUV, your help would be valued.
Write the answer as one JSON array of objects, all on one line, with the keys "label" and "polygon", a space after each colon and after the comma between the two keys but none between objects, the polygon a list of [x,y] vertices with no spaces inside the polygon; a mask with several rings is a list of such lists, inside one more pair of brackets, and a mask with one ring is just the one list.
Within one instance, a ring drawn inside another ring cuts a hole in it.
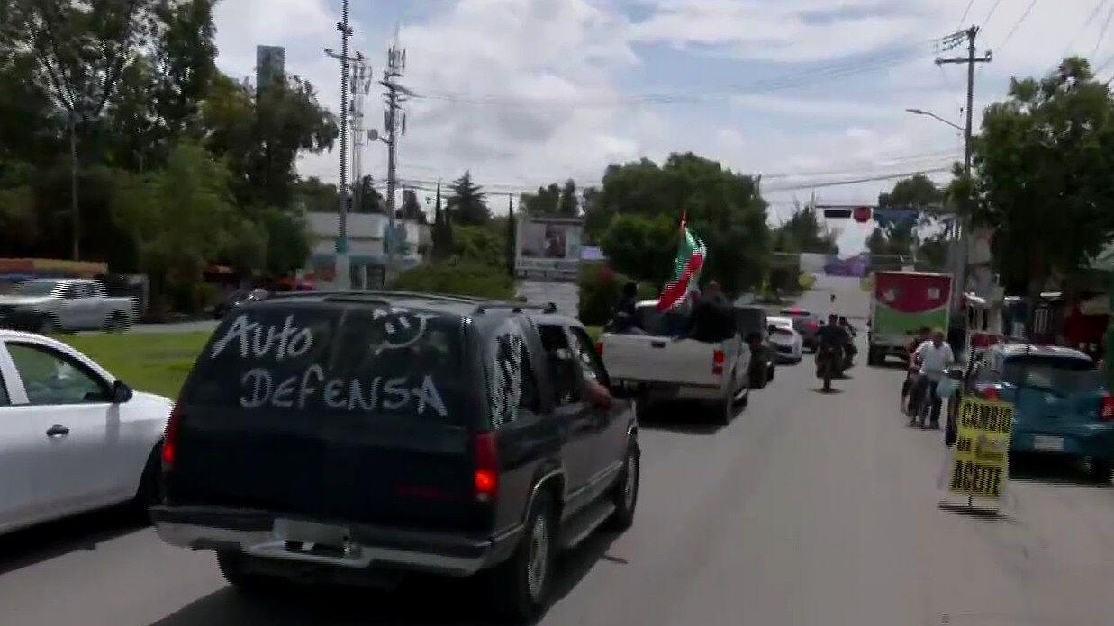
[{"label": "green grass patch between white car and black SUV", "polygon": [[65,341],[131,388],[178,397],[209,332],[63,335]]}]

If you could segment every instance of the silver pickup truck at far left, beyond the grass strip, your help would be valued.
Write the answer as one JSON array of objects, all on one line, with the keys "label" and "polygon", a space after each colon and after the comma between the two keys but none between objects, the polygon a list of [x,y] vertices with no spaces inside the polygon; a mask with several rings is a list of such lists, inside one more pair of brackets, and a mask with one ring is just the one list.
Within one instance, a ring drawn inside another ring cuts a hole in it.
[{"label": "silver pickup truck at far left, beyond the grass strip", "polygon": [[0,324],[43,334],[66,330],[126,330],[135,321],[131,298],[108,296],[99,280],[41,278],[0,296]]}]

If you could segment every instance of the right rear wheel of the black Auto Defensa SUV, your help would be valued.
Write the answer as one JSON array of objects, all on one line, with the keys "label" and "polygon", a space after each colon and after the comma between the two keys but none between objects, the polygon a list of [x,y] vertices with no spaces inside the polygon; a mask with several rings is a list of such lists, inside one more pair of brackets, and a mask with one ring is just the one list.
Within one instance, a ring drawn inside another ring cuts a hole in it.
[{"label": "right rear wheel of the black Auto Defensa SUV", "polygon": [[557,556],[555,510],[550,491],[539,491],[518,547],[489,573],[488,595],[497,616],[516,623],[532,622],[545,608]]}]

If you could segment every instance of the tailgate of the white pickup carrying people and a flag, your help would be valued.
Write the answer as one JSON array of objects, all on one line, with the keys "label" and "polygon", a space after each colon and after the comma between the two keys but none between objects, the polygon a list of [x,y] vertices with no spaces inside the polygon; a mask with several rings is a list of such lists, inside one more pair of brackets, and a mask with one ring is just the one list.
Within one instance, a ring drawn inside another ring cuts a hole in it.
[{"label": "tailgate of the white pickup carrying people and a flag", "polygon": [[714,375],[715,350],[721,346],[695,339],[674,340],[651,335],[605,334],[604,366],[612,378],[677,385],[720,385]]}]

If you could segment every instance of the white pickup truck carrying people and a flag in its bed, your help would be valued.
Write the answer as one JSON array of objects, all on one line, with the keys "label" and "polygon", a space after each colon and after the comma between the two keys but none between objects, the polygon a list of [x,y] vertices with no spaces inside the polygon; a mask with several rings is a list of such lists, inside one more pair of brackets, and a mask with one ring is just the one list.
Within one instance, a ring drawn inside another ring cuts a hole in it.
[{"label": "white pickup truck carrying people and a flag in its bed", "polygon": [[703,400],[726,424],[750,395],[751,349],[735,332],[719,342],[675,339],[655,300],[638,302],[631,332],[604,332],[597,346],[613,381],[634,387],[639,407],[661,400]]}]

